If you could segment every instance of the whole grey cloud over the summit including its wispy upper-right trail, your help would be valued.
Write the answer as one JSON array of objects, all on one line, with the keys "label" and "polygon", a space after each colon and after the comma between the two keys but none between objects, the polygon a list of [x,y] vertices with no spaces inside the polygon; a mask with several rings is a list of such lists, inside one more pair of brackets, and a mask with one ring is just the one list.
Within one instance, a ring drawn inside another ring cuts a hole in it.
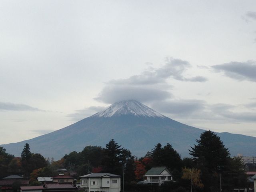
[{"label": "whole grey cloud over the summit including its wispy upper-right trail", "polygon": [[105,103],[130,99],[140,102],[162,101],[172,98],[169,92],[172,85],[167,82],[170,78],[190,82],[207,80],[202,76],[186,77],[184,72],[191,67],[188,61],[167,57],[165,62],[164,66],[160,68],[150,66],[139,75],[110,80],[94,99]]}]

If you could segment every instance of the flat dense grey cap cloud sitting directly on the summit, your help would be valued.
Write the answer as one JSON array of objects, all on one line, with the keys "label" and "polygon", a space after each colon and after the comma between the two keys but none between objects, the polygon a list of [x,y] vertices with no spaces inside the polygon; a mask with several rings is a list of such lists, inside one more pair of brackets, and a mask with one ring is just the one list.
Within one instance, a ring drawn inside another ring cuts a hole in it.
[{"label": "flat dense grey cap cloud sitting directly on the summit", "polygon": [[94,98],[104,103],[114,103],[121,100],[138,100],[140,102],[151,102],[170,98],[168,91],[159,88],[129,86],[129,85],[108,85],[103,88],[99,96]]}]

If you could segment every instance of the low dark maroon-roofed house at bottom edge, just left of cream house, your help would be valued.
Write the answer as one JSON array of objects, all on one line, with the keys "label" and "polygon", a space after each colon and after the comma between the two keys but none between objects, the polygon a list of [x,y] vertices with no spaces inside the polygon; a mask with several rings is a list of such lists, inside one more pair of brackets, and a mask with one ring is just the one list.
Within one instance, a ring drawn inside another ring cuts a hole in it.
[{"label": "low dark maroon-roofed house at bottom edge, just left of cream house", "polygon": [[44,183],[44,192],[77,192],[78,188],[76,186],[73,186],[72,183],[56,183],[56,182],[50,182],[50,183]]}]

